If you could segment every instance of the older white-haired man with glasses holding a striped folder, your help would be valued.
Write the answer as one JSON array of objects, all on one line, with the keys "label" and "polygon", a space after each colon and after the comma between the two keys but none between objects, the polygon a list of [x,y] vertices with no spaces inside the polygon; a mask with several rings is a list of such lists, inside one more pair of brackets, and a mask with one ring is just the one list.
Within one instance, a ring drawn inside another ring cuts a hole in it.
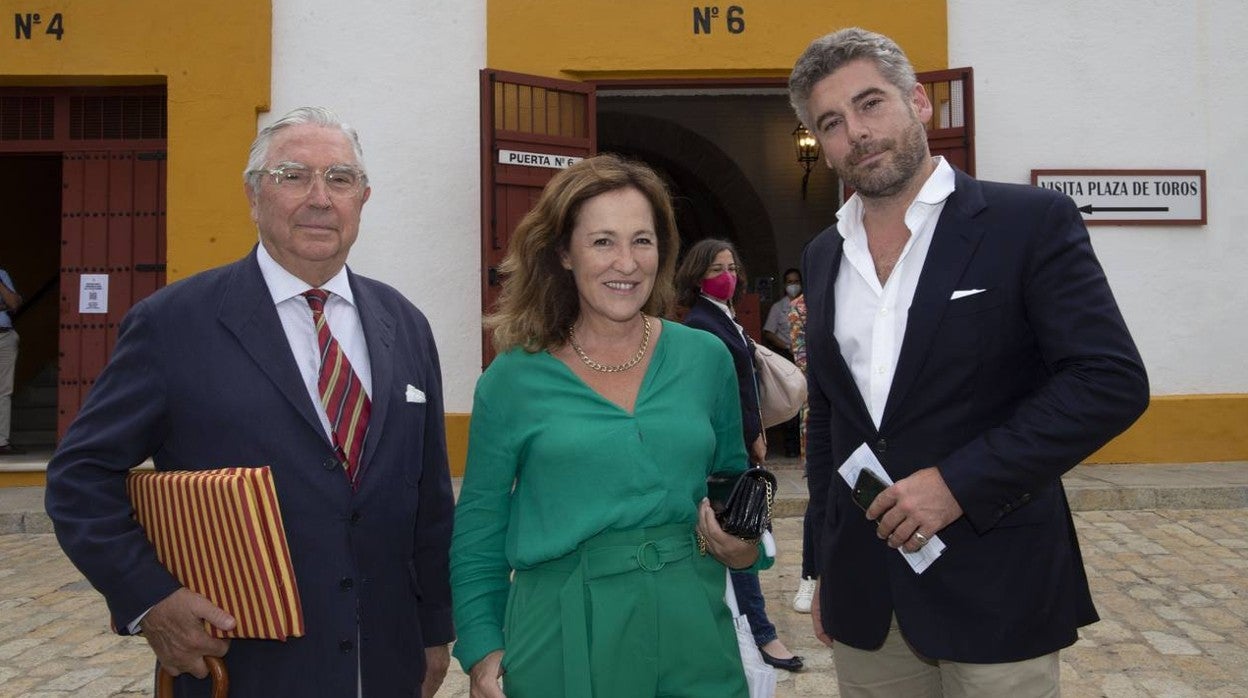
[{"label": "older white-haired man with glasses holding a striped folder", "polygon": [[[260,245],[127,313],[47,466],[47,512],[119,632],[141,632],[182,674],[178,696],[208,694],[205,656],[225,656],[236,696],[416,696],[422,682],[432,696],[453,639],[433,335],[397,291],[346,268],[371,192],[353,129],[297,109],[260,132],[245,180]],[[329,332],[371,402],[354,483],[318,400],[310,288],[329,292]],[[126,473],[147,458],[157,469],[272,468],[303,637],[205,632],[233,618],[182,587],[131,518]]]}]

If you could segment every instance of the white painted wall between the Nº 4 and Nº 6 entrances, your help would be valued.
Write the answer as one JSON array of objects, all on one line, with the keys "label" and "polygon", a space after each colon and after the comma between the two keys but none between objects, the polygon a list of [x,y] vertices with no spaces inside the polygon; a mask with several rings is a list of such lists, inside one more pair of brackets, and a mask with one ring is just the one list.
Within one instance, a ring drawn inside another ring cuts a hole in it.
[{"label": "white painted wall between the N\u00ba 4 and N\u00ba 6 entrances", "polygon": [[359,131],[373,192],[348,263],[428,315],[447,411],[469,412],[480,375],[485,0],[272,6],[272,110],[260,125],[322,105]]}]

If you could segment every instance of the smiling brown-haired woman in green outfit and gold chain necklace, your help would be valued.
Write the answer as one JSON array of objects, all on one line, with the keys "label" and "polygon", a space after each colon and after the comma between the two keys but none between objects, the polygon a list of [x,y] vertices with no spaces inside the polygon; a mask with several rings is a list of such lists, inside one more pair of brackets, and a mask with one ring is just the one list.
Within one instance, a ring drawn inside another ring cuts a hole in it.
[{"label": "smiling brown-haired woman in green outfit and gold chain necklace", "polygon": [[724,345],[660,320],[678,248],[663,181],[613,155],[512,236],[451,549],[474,697],[746,696],[724,579],[758,546],[705,499],[741,411]]}]

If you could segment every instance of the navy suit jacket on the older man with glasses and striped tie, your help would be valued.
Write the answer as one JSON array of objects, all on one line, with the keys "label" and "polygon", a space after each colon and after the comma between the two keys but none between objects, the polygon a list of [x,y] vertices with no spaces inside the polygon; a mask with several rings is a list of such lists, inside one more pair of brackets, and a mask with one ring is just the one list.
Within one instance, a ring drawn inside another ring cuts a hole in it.
[{"label": "navy suit jacket on the older man with glasses and striped tie", "polygon": [[[307,634],[231,642],[237,696],[416,696],[424,648],[453,639],[453,499],[442,378],[424,316],[351,273],[372,363],[372,416],[352,492],[296,367],[252,251],[137,303],[47,466],[65,552],[125,628],[180,586],[131,519],[126,472],[270,466]],[[406,386],[427,402],[408,402]],[[358,622],[357,622],[358,618]],[[357,637],[358,634],[358,637]],[[188,674],[180,696],[207,696]]]}]

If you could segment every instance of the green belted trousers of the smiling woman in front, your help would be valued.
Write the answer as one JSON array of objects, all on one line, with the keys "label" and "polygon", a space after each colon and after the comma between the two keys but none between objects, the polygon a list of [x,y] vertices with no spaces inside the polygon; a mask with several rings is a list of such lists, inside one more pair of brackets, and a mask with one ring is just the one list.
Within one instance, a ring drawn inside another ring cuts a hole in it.
[{"label": "green belted trousers of the smiling woman in front", "polygon": [[517,571],[508,698],[748,697],[724,578],[690,523],[603,533]]}]

